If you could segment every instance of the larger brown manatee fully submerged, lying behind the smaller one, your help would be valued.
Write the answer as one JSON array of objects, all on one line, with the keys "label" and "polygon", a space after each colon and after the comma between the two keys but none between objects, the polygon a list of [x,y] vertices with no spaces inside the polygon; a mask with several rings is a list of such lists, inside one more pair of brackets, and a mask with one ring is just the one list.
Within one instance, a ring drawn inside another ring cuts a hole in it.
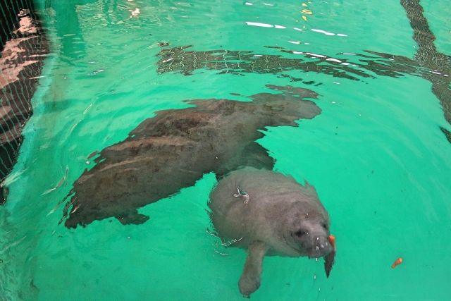
[{"label": "larger brown manatee fully submerged, lying behind the smaller one", "polygon": [[[137,209],[194,185],[205,173],[221,177],[240,166],[273,168],[273,159],[255,140],[267,126],[297,126],[321,110],[305,98],[311,90],[268,85],[279,93],[259,93],[252,102],[198,99],[187,109],[156,113],[128,138],[99,153],[94,168],[82,173],[63,211],[75,228],[116,217],[144,223]],[[61,221],[63,221],[61,219]]]}]

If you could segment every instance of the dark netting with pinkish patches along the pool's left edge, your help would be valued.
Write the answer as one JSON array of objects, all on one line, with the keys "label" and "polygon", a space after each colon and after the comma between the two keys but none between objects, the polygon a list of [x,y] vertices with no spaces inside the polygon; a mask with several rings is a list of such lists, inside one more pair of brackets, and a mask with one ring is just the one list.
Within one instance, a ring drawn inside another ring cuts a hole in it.
[{"label": "dark netting with pinkish patches along the pool's left edge", "polygon": [[30,101],[47,49],[32,0],[0,0],[0,204],[6,198],[4,180],[23,141],[23,126],[32,115]]}]

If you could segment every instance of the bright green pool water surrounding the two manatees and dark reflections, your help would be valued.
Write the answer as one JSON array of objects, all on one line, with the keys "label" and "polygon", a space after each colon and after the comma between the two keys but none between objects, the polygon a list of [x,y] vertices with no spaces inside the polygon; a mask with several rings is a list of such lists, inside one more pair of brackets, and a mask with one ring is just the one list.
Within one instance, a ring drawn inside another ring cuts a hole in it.
[{"label": "bright green pool water surrounding the two manatees and dark reflections", "polygon": [[[368,49],[412,58],[416,43],[402,6],[311,1],[306,21],[301,1],[249,2],[37,1],[52,53],[0,208],[0,300],[242,300],[237,280],[245,252],[224,249],[207,231],[213,174],[140,209],[150,220],[139,226],[106,219],[68,230],[58,221],[61,201],[92,167],[92,152],[123,140],[156,111],[185,107],[184,99],[247,100],[230,93],[255,94],[266,84],[321,94],[321,115],[298,128],[268,128],[259,143],[277,171],[316,187],[338,253],[330,278],[322,260],[266,257],[252,300],[449,298],[451,145],[439,126],[451,126],[431,82],[292,71],[322,83],[313,86],[271,74],[156,73],[161,41],[198,51],[280,46],[333,57]],[[423,2],[438,49],[450,54],[448,1]],[[404,262],[391,269],[397,257]]]}]

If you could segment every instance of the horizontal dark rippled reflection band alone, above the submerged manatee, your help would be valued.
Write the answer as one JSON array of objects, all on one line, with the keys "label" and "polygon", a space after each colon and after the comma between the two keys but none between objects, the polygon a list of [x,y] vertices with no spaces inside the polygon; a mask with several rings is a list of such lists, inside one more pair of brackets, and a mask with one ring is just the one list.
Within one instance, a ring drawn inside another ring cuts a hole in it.
[{"label": "horizontal dark rippled reflection band alone, above the submerged manatee", "polygon": [[406,61],[402,61],[402,63],[390,61],[383,56],[360,55],[357,56],[360,59],[359,62],[353,62],[347,59],[338,60],[323,54],[291,51],[281,47],[267,48],[276,49],[276,51],[292,54],[296,57],[287,58],[275,54],[261,55],[252,51],[223,49],[211,51],[187,50],[190,47],[192,46],[162,49],[158,54],[161,59],[157,63],[157,72],[159,74],[179,72],[184,75],[191,75],[194,70],[209,69],[218,70],[220,71],[219,74],[272,73],[290,77],[288,75],[290,71],[302,70],[332,75],[335,78],[362,80],[362,78],[376,78],[375,75],[400,77],[404,74],[416,73],[416,66],[418,66],[409,59],[406,61],[414,63],[414,66],[406,64]]}]

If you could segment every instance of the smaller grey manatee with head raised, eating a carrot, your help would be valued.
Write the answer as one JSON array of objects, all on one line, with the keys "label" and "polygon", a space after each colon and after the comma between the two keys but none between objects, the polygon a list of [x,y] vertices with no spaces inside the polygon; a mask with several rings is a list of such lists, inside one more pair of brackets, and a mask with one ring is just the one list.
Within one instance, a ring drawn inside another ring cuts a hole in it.
[{"label": "smaller grey manatee with head raised, eating a carrot", "polygon": [[248,250],[239,282],[245,296],[259,288],[265,254],[325,257],[327,261],[333,252],[328,213],[307,182],[302,186],[281,173],[242,168],[218,182],[209,208],[218,235],[235,242],[233,247]]}]

